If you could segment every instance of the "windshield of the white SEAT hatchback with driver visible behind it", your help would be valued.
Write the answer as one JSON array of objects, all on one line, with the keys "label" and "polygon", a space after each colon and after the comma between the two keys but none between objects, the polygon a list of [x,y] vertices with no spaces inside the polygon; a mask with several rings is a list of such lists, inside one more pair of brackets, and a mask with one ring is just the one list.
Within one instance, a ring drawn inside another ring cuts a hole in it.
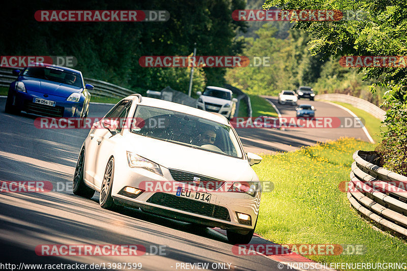
[{"label": "windshield of the white SEAT hatchback with driver visible behind it", "polygon": [[230,126],[163,108],[138,105],[131,132],[156,139],[242,158]]}]

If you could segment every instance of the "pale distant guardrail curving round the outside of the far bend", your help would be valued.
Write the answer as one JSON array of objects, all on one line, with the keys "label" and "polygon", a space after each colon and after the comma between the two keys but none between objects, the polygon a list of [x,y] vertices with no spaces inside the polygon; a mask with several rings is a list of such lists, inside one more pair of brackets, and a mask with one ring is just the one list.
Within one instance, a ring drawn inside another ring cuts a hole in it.
[{"label": "pale distant guardrail curving round the outside of the far bend", "polygon": [[347,104],[352,104],[354,107],[359,108],[363,111],[366,111],[373,116],[379,118],[381,121],[384,121],[386,111],[381,109],[380,107],[377,107],[376,105],[354,97],[350,95],[345,95],[345,94],[320,94],[315,96],[315,100],[325,100],[325,101],[331,101],[331,102],[342,102],[342,103],[347,103]]}]

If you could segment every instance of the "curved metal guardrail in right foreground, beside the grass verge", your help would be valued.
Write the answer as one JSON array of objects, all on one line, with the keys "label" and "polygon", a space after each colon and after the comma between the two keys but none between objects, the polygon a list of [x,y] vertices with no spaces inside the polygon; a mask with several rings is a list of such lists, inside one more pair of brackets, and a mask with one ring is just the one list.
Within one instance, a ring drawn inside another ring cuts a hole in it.
[{"label": "curved metal guardrail in right foreground, beside the grass verge", "polygon": [[374,152],[353,154],[347,198],[369,219],[407,236],[407,176],[372,164]]}]

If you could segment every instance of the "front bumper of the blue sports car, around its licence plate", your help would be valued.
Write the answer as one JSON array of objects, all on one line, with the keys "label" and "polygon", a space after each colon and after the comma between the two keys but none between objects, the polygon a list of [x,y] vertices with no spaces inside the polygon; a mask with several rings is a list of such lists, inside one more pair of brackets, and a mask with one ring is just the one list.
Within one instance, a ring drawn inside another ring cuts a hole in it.
[{"label": "front bumper of the blue sports car, around its licence plate", "polygon": [[[11,105],[17,110],[51,117],[80,117],[85,99],[83,95],[81,95],[78,102],[69,102],[65,97],[55,95],[47,95],[47,97],[44,97],[43,93],[34,91],[28,91],[28,93],[19,92],[12,88],[9,89],[8,97],[11,99]],[[55,106],[35,103],[35,98],[54,101]]]}]

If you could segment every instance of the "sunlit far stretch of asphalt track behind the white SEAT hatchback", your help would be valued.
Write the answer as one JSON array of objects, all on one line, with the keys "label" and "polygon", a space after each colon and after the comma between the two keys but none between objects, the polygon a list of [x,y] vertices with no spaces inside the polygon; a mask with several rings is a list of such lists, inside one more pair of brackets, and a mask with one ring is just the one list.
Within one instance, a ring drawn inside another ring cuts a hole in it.
[{"label": "sunlit far stretch of asphalt track behind the white SEAT hatchback", "polygon": [[[293,105],[278,104],[277,97],[268,97],[280,111],[282,117],[295,117]],[[329,103],[301,99],[298,104],[310,104],[316,108],[315,117],[350,117],[345,110]],[[236,129],[246,152],[273,154],[296,150],[302,146],[315,145],[318,141],[335,140],[340,137],[355,137],[368,141],[361,128],[286,128],[284,131],[272,128]]]}]

